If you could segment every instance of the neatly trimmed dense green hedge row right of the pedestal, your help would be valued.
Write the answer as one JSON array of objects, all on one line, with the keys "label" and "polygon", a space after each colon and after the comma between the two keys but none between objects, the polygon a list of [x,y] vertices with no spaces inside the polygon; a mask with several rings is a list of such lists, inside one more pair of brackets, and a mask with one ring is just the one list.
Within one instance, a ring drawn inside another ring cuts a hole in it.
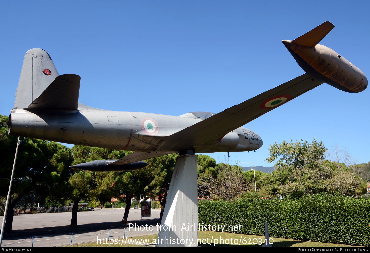
[{"label": "neatly trimmed dense green hedge row right of the pedestal", "polygon": [[370,200],[313,195],[299,200],[255,199],[236,202],[205,200],[198,203],[203,225],[241,225],[228,231],[313,242],[370,246]]}]

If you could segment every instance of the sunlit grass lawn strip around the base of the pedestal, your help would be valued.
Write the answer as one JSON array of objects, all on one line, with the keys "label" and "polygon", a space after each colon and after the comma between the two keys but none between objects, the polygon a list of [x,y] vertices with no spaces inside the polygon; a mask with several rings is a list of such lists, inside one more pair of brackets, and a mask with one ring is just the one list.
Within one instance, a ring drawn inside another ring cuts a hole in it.
[{"label": "sunlit grass lawn strip around the base of the pedestal", "polygon": [[[221,237],[221,242],[220,242]],[[240,240],[241,238],[241,240]],[[124,239],[122,242],[122,237],[111,237],[110,240],[111,245],[110,247],[127,247],[127,246],[135,246],[135,247],[145,247],[145,246],[154,246],[154,241],[157,239],[157,235],[150,235],[150,236],[137,236],[137,237],[128,237],[127,240]],[[116,240],[117,239],[117,240]],[[199,239],[201,243],[199,243]],[[207,243],[208,239],[208,243]],[[223,241],[222,241],[223,239]],[[308,241],[299,241],[299,240],[292,240],[292,239],[282,239],[282,238],[274,238],[270,237],[270,242],[273,244],[272,247],[279,247],[279,246],[292,246],[292,247],[340,247],[340,246],[350,246],[345,244],[334,244],[334,243],[319,243],[319,242],[308,242]],[[211,243],[212,240],[212,243]],[[216,241],[215,241],[216,240]],[[242,234],[234,234],[234,233],[227,233],[227,232],[214,232],[214,231],[198,231],[198,246],[202,247],[210,247],[210,246],[246,246],[246,247],[260,247],[258,245],[265,240],[263,236],[254,236],[254,235],[242,235]],[[126,242],[126,244],[125,244]],[[117,244],[115,244],[117,243]],[[210,244],[211,243],[211,244]],[[235,244],[237,243],[237,245]],[[243,244],[244,243],[244,244]],[[249,244],[248,244],[249,243]],[[92,243],[83,243],[83,244],[75,244],[72,245],[73,247],[96,247],[96,246],[108,246],[108,244],[97,244],[96,242]],[[67,246],[68,247],[68,246]]]}]

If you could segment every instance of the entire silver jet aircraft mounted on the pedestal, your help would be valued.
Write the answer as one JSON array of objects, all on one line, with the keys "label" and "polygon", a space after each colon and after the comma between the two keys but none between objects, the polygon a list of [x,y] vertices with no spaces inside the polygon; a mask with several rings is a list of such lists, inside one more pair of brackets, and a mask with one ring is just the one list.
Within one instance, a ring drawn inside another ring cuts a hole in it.
[{"label": "entire silver jet aircraft mounted on the pedestal", "polygon": [[303,74],[218,114],[180,116],[116,112],[78,102],[80,76],[59,75],[49,54],[28,50],[23,61],[8,133],[70,144],[134,151],[119,160],[98,160],[73,168],[91,171],[140,169],[148,158],[179,152],[240,152],[259,149],[256,132],[241,127],[323,82],[346,92],[361,92],[367,78],[332,49],[317,43],[334,28],[329,21],[283,44]]}]

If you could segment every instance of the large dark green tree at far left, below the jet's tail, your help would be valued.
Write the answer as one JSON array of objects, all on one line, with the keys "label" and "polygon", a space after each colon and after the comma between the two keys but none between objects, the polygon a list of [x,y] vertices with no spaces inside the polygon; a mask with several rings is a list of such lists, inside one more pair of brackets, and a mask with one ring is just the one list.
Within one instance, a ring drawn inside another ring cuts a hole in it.
[{"label": "large dark green tree at far left, below the jet's tail", "polygon": [[[7,134],[8,117],[0,115],[0,195],[6,198],[11,169],[13,168],[17,136]],[[13,208],[23,196],[37,193],[40,198],[63,192],[71,174],[72,162],[69,148],[44,140],[22,138],[14,171],[5,232],[11,232]]]}]

